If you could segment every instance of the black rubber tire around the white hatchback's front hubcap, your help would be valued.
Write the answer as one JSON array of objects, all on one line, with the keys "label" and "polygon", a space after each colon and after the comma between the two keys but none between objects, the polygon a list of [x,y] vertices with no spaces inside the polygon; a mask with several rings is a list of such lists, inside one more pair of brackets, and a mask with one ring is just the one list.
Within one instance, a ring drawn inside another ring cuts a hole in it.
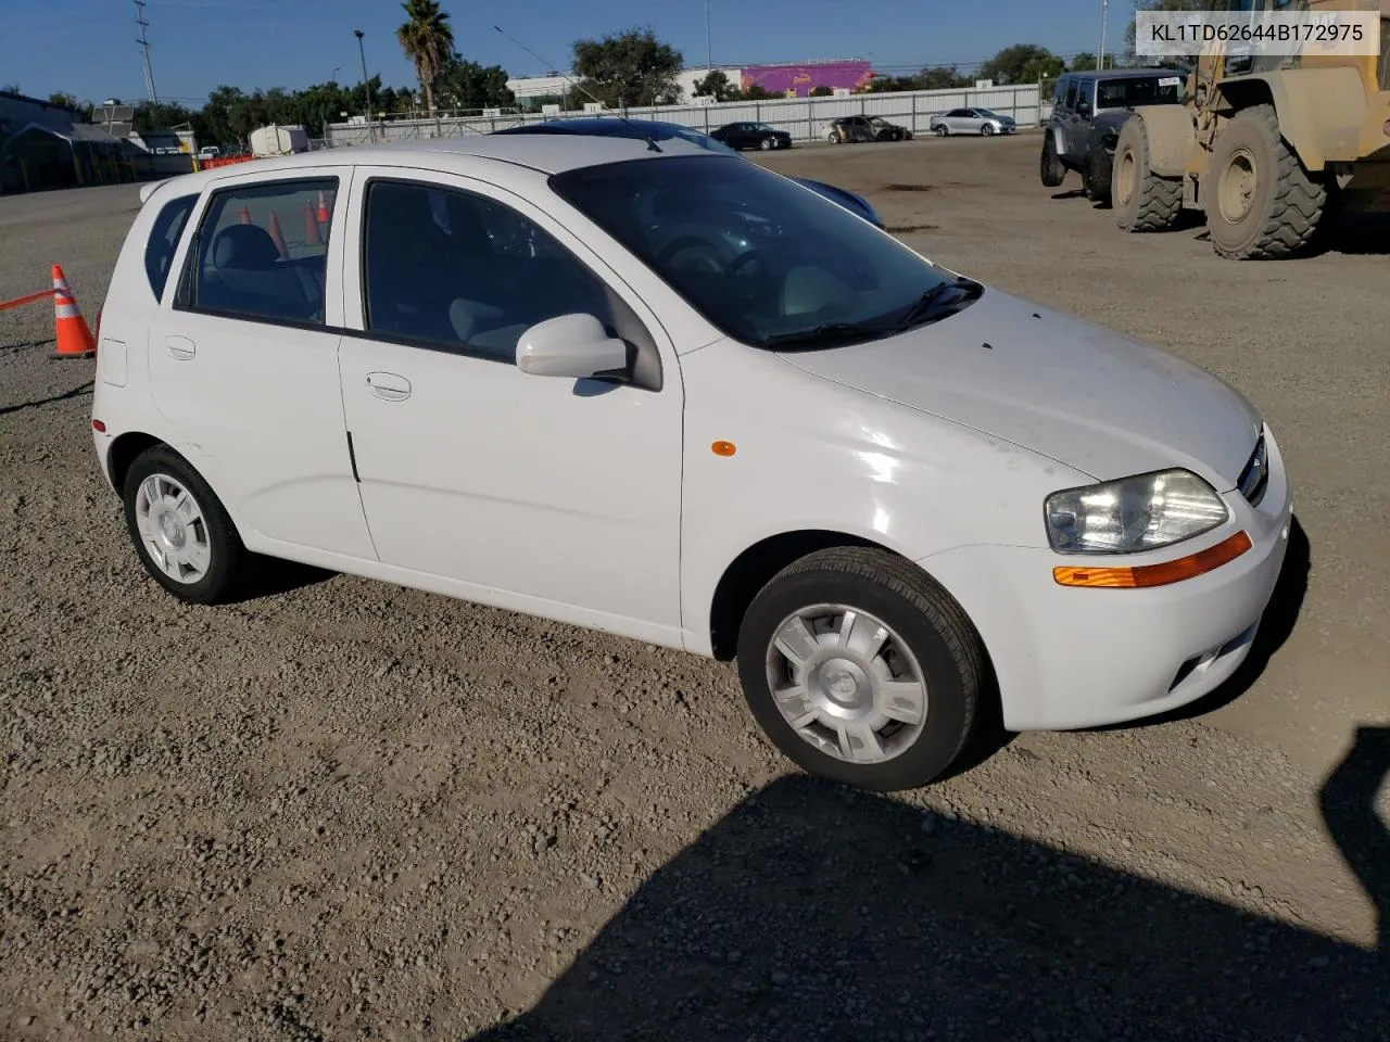
[{"label": "black rubber tire around the white hatchback's front hubcap", "polygon": [[[920,667],[927,689],[924,724],[891,759],[853,763],[821,752],[783,716],[767,654],[791,614],[844,604],[894,631]],[[833,547],[778,572],[753,599],[738,635],[738,672],[753,718],[790,760],[809,774],[874,792],[913,789],[938,778],[974,728],[984,685],[980,638],[965,611],[909,561],[869,547]]]}]

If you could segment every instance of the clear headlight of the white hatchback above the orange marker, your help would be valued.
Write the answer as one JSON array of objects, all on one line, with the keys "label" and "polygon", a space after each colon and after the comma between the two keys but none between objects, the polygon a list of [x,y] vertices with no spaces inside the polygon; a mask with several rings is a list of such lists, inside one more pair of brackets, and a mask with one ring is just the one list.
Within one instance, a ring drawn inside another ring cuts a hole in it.
[{"label": "clear headlight of the white hatchback above the orange marker", "polygon": [[1048,542],[1058,553],[1140,553],[1209,532],[1229,517],[1216,489],[1170,470],[1048,496]]}]

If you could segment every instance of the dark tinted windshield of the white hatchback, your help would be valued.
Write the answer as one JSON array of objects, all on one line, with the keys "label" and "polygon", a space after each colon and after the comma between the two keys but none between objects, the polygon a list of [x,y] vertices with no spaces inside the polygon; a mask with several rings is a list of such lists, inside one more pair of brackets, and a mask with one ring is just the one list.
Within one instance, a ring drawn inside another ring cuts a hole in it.
[{"label": "dark tinted windshield of the white hatchback", "polygon": [[[756,164],[714,156],[628,160],[557,174],[550,185],[744,343],[833,346],[944,317],[919,314],[919,306],[952,276]],[[940,303],[965,306],[956,296]]]}]

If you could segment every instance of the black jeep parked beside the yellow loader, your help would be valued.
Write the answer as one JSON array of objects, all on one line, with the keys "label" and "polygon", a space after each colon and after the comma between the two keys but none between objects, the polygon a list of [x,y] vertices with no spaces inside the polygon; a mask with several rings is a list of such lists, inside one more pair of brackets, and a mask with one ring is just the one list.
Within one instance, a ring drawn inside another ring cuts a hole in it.
[{"label": "black jeep parked beside the yellow loader", "polygon": [[1182,104],[1186,69],[1136,68],[1066,72],[1056,81],[1042,139],[1040,179],[1056,188],[1074,169],[1097,203],[1111,201],[1111,164],[1120,126],[1136,106]]}]

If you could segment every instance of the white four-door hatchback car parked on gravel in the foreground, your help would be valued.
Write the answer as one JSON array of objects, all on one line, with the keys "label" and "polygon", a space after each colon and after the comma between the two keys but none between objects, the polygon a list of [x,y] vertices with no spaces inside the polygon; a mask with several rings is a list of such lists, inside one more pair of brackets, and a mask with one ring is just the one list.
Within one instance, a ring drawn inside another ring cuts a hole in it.
[{"label": "white four-door hatchback car parked on gravel in the foreground", "polygon": [[165,181],[92,427],[140,561],[250,554],[737,657],[805,770],[940,775],[1184,704],[1291,497],[1251,404],[682,140],[517,135]]}]

